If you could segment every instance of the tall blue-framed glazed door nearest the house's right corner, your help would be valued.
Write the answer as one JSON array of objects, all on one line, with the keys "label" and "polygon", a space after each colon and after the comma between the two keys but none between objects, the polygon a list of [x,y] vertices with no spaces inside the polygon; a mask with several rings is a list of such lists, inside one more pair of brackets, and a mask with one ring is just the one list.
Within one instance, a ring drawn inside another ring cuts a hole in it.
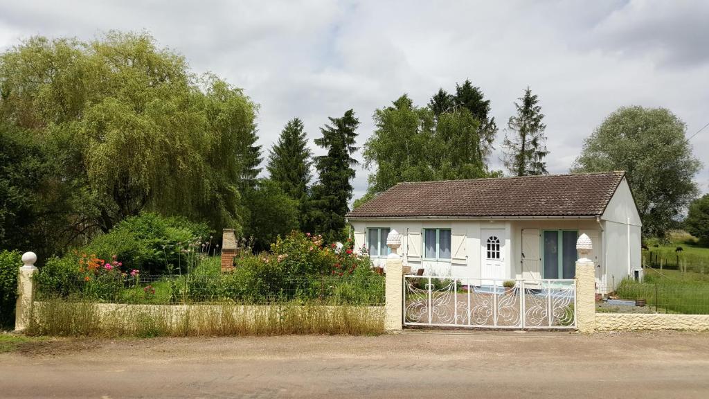
[{"label": "tall blue-framed glazed door nearest the house's right corner", "polygon": [[544,278],[576,276],[576,230],[545,230],[542,234]]}]

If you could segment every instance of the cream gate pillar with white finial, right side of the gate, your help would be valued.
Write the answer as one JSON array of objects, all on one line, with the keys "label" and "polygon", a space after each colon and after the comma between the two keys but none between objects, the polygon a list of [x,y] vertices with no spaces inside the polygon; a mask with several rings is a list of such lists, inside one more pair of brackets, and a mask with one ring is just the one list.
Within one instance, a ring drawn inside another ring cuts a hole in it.
[{"label": "cream gate pillar with white finial, right side of the gate", "polygon": [[591,239],[581,234],[576,241],[581,258],[576,261],[576,328],[589,334],[596,331],[596,266],[586,255],[591,252]]}]

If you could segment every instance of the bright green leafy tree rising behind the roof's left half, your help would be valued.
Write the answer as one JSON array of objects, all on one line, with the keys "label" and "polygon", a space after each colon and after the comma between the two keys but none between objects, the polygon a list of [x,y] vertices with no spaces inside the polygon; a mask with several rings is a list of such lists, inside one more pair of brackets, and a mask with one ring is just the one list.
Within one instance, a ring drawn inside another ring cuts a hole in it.
[{"label": "bright green leafy tree rising behind the roof's left half", "polygon": [[369,192],[398,182],[471,179],[489,175],[480,147],[479,121],[466,108],[436,116],[404,94],[374,111],[376,130],[364,144],[364,164],[376,165]]}]

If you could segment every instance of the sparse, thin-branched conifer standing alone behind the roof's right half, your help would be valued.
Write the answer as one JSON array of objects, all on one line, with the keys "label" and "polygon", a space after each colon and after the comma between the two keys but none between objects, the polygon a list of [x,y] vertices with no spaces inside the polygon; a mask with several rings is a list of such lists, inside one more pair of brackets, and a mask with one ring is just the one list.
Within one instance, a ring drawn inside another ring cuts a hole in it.
[{"label": "sparse, thin-branched conifer standing alone behind the roof's right half", "polygon": [[521,104],[515,102],[517,115],[510,116],[507,123],[514,134],[512,138],[505,135],[503,162],[513,175],[546,175],[548,172],[544,157],[549,151],[545,146],[547,137],[544,135],[544,129],[547,126],[542,123],[542,106],[537,105],[539,99],[536,94],[532,94],[529,87],[519,100]]}]

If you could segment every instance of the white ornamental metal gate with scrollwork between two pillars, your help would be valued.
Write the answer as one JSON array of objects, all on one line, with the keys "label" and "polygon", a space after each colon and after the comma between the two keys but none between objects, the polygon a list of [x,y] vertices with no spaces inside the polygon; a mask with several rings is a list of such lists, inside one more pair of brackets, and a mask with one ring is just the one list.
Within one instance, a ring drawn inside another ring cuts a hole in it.
[{"label": "white ornamental metal gate with scrollwork between two pillars", "polygon": [[403,276],[405,326],[576,329],[576,280]]}]

